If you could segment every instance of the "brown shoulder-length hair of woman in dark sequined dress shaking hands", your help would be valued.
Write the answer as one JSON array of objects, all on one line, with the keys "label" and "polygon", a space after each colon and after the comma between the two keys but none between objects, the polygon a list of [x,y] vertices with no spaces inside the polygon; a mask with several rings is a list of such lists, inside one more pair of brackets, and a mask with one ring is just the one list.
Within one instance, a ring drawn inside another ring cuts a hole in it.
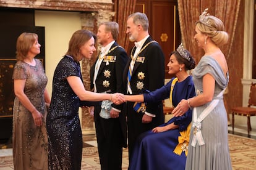
[{"label": "brown shoulder-length hair of woman in dark sequined dress shaking hands", "polygon": [[76,62],[79,62],[80,47],[89,41],[91,38],[94,38],[96,41],[96,36],[91,31],[88,30],[77,30],[72,35],[69,40],[69,49],[66,52],[66,55],[70,55]]}]

